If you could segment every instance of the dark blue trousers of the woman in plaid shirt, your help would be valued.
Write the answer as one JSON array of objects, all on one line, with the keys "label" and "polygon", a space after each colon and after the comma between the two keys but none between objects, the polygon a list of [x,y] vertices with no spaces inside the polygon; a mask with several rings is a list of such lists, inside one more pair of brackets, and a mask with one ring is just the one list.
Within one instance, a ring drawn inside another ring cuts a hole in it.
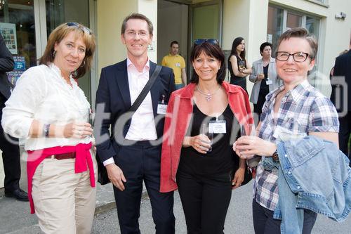
[{"label": "dark blue trousers of the woman in plaid shirt", "polygon": [[[280,234],[280,224],[282,221],[273,219],[273,213],[253,200],[253,228],[255,234]],[[303,234],[310,234],[314,223],[316,222],[317,214],[305,209],[303,212]]]}]

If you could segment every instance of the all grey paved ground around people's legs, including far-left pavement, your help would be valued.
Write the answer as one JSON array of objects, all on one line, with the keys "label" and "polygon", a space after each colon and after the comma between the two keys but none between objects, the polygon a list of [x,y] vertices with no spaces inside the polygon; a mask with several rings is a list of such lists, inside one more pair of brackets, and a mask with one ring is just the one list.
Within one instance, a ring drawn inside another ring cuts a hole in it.
[{"label": "all grey paved ground around people's legs, including far-left pavement", "polygon": [[[253,233],[251,215],[251,187],[249,183],[232,193],[232,201],[225,222],[225,233]],[[175,193],[176,233],[186,233],[183,209],[178,193]],[[343,223],[336,223],[319,215],[313,234],[349,234],[351,218]],[[141,204],[140,229],[142,233],[154,233],[150,201],[145,196]],[[4,197],[0,189],[0,234],[2,233],[41,233],[37,225],[37,217],[29,214],[29,204]],[[119,233],[117,211],[114,206],[112,187],[98,186],[98,200],[92,233]]]}]

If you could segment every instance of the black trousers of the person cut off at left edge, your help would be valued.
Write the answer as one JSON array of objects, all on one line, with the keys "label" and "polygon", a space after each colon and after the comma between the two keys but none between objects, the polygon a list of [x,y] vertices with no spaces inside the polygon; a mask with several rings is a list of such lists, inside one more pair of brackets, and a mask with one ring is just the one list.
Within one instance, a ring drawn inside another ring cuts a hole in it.
[{"label": "black trousers of the person cut off at left edge", "polygon": [[[2,118],[2,107],[0,110],[0,119]],[[8,141],[10,138],[11,141]],[[20,148],[18,147],[18,138],[9,135],[5,137],[4,129],[0,124],[0,150],[2,151],[2,160],[5,171],[4,187],[8,192],[20,188]]]}]

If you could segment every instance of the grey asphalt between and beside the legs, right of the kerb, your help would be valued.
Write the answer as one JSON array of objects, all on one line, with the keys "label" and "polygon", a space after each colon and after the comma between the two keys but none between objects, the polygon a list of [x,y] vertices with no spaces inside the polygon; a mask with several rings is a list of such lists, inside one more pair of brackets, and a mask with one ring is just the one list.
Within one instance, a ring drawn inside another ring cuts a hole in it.
[{"label": "grey asphalt between and beside the legs, right of the kerb", "polygon": [[[238,188],[232,193],[232,201],[225,221],[225,233],[252,234],[252,214],[251,214],[251,193],[252,184],[243,188]],[[176,216],[176,233],[186,233],[183,209],[180,204],[178,193],[175,193],[174,213]],[[343,223],[336,223],[330,219],[319,215],[317,223],[312,231],[313,234],[350,234],[351,218]],[[152,221],[150,201],[145,199],[141,204],[140,214],[141,233],[154,233],[154,223]],[[108,212],[98,214],[95,217],[92,233],[120,233],[117,222],[117,211],[112,209]]]}]

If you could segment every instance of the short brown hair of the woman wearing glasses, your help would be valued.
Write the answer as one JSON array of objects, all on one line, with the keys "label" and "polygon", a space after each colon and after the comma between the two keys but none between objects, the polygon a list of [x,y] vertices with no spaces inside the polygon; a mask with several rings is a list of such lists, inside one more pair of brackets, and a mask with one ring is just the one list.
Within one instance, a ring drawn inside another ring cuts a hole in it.
[{"label": "short brown hair of the woman wearing glasses", "polygon": [[305,27],[294,27],[291,30],[287,30],[279,37],[277,49],[284,40],[288,40],[291,37],[303,38],[310,44],[311,53],[308,55],[311,59],[316,58],[318,51],[318,42],[313,34],[310,34]]}]

